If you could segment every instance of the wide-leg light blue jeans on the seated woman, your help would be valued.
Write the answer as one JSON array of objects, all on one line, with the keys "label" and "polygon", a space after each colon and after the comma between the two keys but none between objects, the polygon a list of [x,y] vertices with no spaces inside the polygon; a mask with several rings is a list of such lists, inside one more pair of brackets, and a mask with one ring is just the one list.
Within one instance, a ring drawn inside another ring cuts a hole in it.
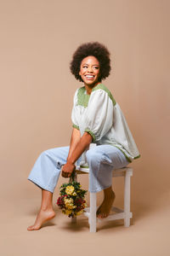
[{"label": "wide-leg light blue jeans on the seated woman", "polygon": [[[65,165],[69,147],[48,149],[39,155],[28,179],[41,189],[54,193],[61,166]],[[129,163],[122,151],[111,145],[100,145],[87,151],[90,192],[111,187],[112,170]]]}]

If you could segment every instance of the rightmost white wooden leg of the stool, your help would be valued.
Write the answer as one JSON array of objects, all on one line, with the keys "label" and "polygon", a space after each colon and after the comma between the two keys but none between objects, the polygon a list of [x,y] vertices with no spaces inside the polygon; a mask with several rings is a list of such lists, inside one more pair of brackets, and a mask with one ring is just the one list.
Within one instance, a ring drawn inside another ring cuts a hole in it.
[{"label": "rightmost white wooden leg of the stool", "polygon": [[124,179],[124,226],[130,225],[130,172],[125,173]]}]

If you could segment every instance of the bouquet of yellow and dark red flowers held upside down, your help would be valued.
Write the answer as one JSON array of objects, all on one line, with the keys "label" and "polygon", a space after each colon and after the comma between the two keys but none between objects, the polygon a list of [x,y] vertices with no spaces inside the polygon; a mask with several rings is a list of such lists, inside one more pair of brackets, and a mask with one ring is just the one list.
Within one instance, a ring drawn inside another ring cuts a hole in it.
[{"label": "bouquet of yellow and dark red flowers held upside down", "polygon": [[72,181],[63,183],[60,187],[60,196],[56,204],[70,218],[82,214],[84,208],[87,207],[84,196],[88,191],[81,189],[81,187],[80,183],[74,181],[74,172],[72,173]]}]

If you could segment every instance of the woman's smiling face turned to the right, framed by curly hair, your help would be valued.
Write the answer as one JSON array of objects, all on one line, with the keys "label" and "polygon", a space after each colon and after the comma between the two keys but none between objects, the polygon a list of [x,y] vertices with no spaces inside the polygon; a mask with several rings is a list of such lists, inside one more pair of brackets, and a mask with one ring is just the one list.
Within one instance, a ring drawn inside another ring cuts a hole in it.
[{"label": "woman's smiling face turned to the right, framed by curly hair", "polygon": [[88,56],[82,60],[79,75],[85,85],[94,87],[99,84],[99,61],[94,56]]}]

